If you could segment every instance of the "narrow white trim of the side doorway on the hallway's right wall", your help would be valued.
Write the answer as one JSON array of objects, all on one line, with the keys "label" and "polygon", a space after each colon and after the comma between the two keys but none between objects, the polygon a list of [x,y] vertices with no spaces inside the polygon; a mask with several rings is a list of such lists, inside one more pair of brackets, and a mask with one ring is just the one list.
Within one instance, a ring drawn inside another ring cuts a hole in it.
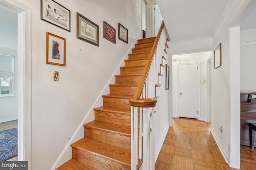
[{"label": "narrow white trim of the side doorway on the hallway's right wall", "polygon": [[212,55],[206,60],[206,122],[212,121]]}]

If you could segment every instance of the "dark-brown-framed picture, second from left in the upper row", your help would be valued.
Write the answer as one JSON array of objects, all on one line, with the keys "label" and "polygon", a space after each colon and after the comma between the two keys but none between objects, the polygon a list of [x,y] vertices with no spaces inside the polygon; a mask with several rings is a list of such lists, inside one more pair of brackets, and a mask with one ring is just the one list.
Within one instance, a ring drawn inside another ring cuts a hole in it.
[{"label": "dark-brown-framed picture, second from left in the upper row", "polygon": [[76,13],[77,38],[99,46],[99,25]]}]

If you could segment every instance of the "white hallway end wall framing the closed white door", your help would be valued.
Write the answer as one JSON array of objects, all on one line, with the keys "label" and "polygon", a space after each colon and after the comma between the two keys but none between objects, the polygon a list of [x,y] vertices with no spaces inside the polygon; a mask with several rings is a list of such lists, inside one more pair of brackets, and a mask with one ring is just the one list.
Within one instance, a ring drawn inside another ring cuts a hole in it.
[{"label": "white hallway end wall framing the closed white door", "polygon": [[[206,59],[210,57],[212,52],[198,52],[183,55],[172,55],[178,61],[172,62],[172,109],[173,117],[178,116],[178,64],[200,63],[200,80],[206,80]],[[200,120],[206,118],[206,83],[200,83]]]}]

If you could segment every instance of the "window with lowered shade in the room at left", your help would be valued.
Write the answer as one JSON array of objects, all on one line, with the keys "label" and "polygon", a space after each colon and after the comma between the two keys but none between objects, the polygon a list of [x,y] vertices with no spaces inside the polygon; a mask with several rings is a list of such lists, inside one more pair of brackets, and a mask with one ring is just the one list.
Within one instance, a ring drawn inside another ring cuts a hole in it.
[{"label": "window with lowered shade in the room at left", "polygon": [[0,97],[13,95],[14,57],[0,54]]}]

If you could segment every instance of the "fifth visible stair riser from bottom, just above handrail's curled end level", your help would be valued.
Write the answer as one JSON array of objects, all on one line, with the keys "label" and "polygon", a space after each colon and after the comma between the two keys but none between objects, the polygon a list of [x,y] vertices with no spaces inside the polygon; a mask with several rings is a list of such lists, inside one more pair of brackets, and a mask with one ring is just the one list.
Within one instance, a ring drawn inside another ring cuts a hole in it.
[{"label": "fifth visible stair riser from bottom, just above handrail's curled end level", "polygon": [[137,86],[110,86],[110,95],[131,95],[137,90]]}]

